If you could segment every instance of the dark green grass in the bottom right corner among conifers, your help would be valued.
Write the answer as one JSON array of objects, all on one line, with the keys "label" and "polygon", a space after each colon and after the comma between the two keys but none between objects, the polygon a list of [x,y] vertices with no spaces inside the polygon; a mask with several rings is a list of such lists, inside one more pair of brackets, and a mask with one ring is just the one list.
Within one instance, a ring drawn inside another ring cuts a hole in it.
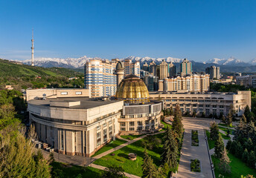
[{"label": "dark green grass in the bottom right corner among conifers", "polygon": [[[231,160],[230,166],[231,166],[231,174],[225,174],[225,178],[240,178],[241,175],[246,176],[247,174],[256,176],[256,169],[249,168],[246,163],[242,162],[241,159],[238,159],[233,154],[228,154],[229,159]],[[211,156],[212,161],[214,162],[214,173],[216,177],[219,177],[221,173],[219,168],[220,160],[216,159],[214,156]],[[222,174],[223,175],[223,174]]]}]

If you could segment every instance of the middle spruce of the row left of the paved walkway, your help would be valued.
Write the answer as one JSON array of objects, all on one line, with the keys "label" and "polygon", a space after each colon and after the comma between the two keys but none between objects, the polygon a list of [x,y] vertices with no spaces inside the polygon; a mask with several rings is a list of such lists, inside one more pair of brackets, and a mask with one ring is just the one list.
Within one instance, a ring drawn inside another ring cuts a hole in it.
[{"label": "middle spruce of the row left of the paved walkway", "polygon": [[164,152],[161,154],[161,162],[167,163],[170,168],[176,168],[178,159],[178,143],[176,141],[176,133],[174,133],[170,127],[167,127],[167,131],[164,136]]}]

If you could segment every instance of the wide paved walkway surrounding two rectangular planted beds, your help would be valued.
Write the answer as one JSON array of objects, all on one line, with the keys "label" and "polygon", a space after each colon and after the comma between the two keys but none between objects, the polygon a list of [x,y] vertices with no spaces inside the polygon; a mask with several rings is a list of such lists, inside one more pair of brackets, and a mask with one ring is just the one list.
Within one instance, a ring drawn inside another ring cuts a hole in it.
[{"label": "wide paved walkway surrounding two rectangular planted beds", "polygon": [[[212,119],[184,117],[182,123],[185,128],[185,135],[182,145],[182,156],[179,160],[179,169],[176,177],[213,177],[211,164],[208,156],[208,149],[205,141],[204,129],[209,127]],[[191,130],[197,130],[199,146],[191,146]],[[199,159],[201,172],[191,171],[191,159]]]}]

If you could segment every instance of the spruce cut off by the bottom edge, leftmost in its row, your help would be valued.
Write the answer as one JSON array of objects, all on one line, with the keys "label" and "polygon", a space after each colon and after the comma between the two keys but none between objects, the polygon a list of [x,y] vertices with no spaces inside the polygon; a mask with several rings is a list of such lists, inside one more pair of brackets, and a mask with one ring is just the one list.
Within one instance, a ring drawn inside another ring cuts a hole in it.
[{"label": "spruce cut off by the bottom edge, leftmost in its row", "polygon": [[142,165],[142,178],[157,177],[156,165],[153,164],[153,159],[147,154],[147,149],[144,150],[144,159]]}]

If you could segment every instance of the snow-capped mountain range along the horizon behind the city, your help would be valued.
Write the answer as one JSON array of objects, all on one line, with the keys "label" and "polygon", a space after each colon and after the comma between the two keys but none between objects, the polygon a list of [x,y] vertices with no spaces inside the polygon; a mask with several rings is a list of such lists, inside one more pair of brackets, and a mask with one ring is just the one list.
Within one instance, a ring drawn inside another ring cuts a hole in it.
[{"label": "snow-capped mountain range along the horizon behind the city", "polygon": [[[36,58],[34,59],[34,63],[36,66],[41,67],[67,67],[67,68],[81,68],[83,67],[86,62],[88,62],[90,59],[101,59],[101,58],[92,58],[83,56],[80,58],[66,58],[66,59],[60,59],[60,58]],[[167,57],[167,58],[151,58],[151,57],[138,57],[138,56],[129,56],[125,59],[131,59],[133,62],[139,61],[141,64],[144,63],[150,63],[150,62],[156,62],[156,64],[159,64],[161,61],[166,62],[173,62],[173,63],[180,63],[183,59],[179,58],[173,58],[173,57]],[[105,60],[105,59],[103,59]],[[124,59],[121,59],[124,60]],[[188,59],[189,60],[189,59]],[[192,61],[193,62],[193,61]],[[23,61],[25,65],[31,64],[31,59]],[[234,57],[230,57],[228,59],[210,59],[206,62],[198,62],[202,64],[214,64],[214,65],[225,65],[225,66],[252,66],[256,65],[256,58],[252,59],[251,62],[242,62],[240,59],[235,59]]]}]

